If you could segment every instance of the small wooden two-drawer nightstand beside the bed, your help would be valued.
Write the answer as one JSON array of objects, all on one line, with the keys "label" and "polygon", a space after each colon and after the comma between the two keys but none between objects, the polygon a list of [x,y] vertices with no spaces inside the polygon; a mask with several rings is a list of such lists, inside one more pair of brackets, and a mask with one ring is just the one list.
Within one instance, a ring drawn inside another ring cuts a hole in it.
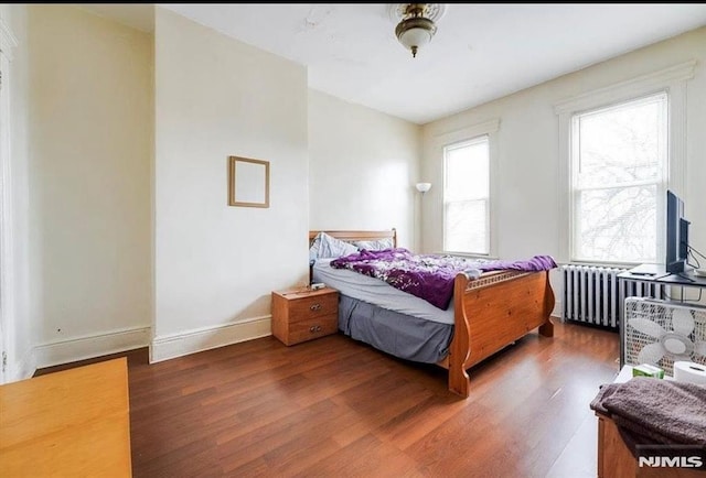
[{"label": "small wooden two-drawer nightstand beside the bed", "polygon": [[272,335],[295,345],[339,329],[339,291],[295,289],[272,292]]}]

